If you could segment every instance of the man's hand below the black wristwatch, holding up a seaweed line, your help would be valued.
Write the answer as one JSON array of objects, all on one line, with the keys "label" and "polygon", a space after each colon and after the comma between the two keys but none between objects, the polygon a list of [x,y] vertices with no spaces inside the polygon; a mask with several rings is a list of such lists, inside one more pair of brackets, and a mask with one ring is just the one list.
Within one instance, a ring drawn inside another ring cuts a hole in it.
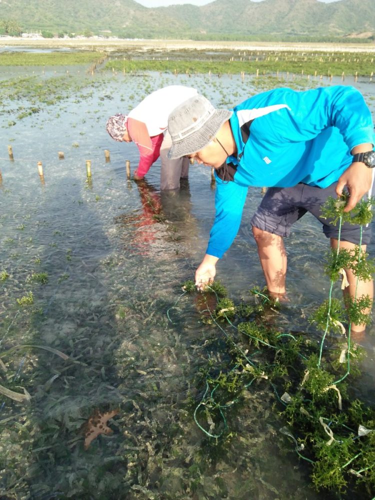
[{"label": "man's hand below the black wristwatch, holding up a seaweed line", "polygon": [[363,194],[366,194],[371,189],[372,169],[367,168],[362,162],[355,161],[341,174],[337,181],[336,193],[337,196],[342,194],[343,188],[346,186],[349,191],[349,198],[344,208],[344,212],[350,211],[361,199]]}]

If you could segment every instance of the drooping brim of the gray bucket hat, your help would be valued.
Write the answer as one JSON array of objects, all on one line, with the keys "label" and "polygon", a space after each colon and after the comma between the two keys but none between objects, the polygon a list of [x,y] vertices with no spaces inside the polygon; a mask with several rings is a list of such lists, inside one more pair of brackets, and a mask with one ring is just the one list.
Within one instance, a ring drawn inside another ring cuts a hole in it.
[{"label": "drooping brim of the gray bucket hat", "polygon": [[227,121],[232,114],[233,111],[229,109],[215,109],[209,120],[207,120],[199,130],[196,130],[182,139],[173,139],[172,137],[172,145],[167,154],[168,158],[181,158],[182,156],[203,149],[203,147],[213,139],[221,125]]}]

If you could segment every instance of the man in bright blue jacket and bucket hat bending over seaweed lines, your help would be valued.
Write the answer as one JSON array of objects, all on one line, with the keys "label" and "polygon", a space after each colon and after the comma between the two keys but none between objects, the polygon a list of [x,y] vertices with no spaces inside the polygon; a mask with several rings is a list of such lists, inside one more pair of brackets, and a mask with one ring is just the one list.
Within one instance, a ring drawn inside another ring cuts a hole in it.
[{"label": "man in bright blue jacket and bucket hat bending over seaweed lines", "polygon": [[[306,91],[277,88],[262,92],[233,110],[215,109],[202,95],[193,96],[169,115],[172,146],[168,156],[189,156],[215,168],[215,220],[206,254],[196,269],[195,284],[212,282],[217,260],[237,234],[248,186],[267,186],[251,224],[268,292],[285,294],[286,252],[283,237],[306,211],[323,224],[333,248],[338,227],[321,218],[328,196],[346,186],[351,210],[371,194],[375,143],[371,114],[360,92],[331,86]],[[363,154],[364,153],[364,154]],[[340,248],[353,249],[359,227],[344,224]],[[362,234],[362,248],[370,227]],[[345,269],[344,293],[373,296],[372,281],[359,281]],[[352,324],[351,331],[364,330]]]}]

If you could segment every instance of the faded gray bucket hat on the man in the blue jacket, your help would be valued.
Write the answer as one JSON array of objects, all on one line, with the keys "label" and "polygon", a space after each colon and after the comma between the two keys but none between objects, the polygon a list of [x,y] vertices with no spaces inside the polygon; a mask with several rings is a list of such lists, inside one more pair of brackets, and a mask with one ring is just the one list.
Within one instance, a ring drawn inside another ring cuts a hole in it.
[{"label": "faded gray bucket hat on the man in the blue jacket", "polygon": [[202,149],[231,115],[232,111],[214,108],[200,94],[179,104],[168,117],[168,131],[172,138],[168,158],[180,158]]}]

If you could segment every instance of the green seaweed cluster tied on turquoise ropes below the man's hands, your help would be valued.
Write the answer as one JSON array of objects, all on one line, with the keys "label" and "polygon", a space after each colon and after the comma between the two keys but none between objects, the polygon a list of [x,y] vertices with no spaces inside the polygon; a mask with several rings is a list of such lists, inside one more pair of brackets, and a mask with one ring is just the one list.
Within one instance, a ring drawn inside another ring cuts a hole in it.
[{"label": "green seaweed cluster tied on turquoise ropes below the man's hands", "polygon": [[[322,210],[324,217],[335,218],[338,224],[343,219],[369,222],[371,200],[361,201],[348,213],[343,212],[345,200],[341,201],[329,199]],[[369,280],[373,265],[358,245],[353,252],[331,250],[325,272],[331,284],[339,279],[343,267],[351,268],[357,278]],[[184,289],[192,291],[193,283],[186,282]],[[220,362],[213,362],[210,355],[206,368],[195,378],[199,396],[191,404],[196,424],[211,441],[227,439],[233,435],[228,420],[246,404],[249,391],[263,390],[268,384],[274,393],[280,432],[287,436],[287,446],[291,443],[300,459],[310,464],[315,488],[372,498],[375,408],[353,396],[363,351],[350,341],[350,322],[369,322],[370,297],[340,303],[330,290],[328,299],[309,318],[323,331],[316,342],[303,332],[277,328],[274,318],[282,305],[266,289],[253,288],[250,296],[248,303],[236,305],[217,282],[201,295],[206,305],[201,308],[202,320],[223,336],[226,347]]]}]

